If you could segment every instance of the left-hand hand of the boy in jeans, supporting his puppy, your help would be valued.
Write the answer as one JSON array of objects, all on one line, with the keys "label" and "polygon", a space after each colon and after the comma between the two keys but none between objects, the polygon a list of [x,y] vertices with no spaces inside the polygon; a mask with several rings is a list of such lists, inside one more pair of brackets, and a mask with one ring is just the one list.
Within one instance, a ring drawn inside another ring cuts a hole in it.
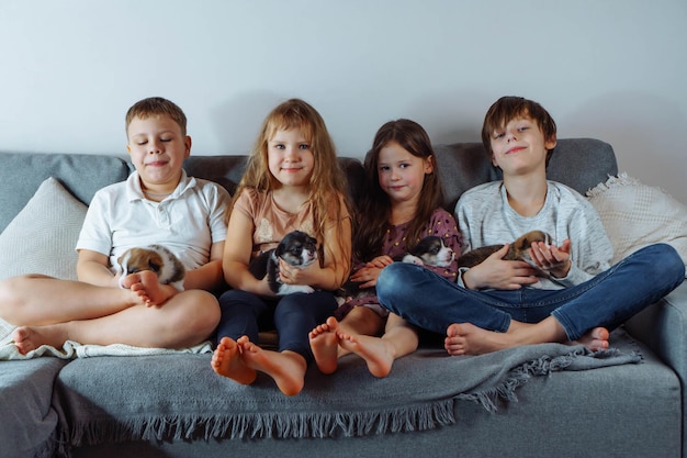
[{"label": "left-hand hand of the boy in jeans, supporting his puppy", "polygon": [[509,245],[463,273],[463,283],[471,290],[494,288],[517,290],[539,281],[537,269],[522,260],[504,260]]}]

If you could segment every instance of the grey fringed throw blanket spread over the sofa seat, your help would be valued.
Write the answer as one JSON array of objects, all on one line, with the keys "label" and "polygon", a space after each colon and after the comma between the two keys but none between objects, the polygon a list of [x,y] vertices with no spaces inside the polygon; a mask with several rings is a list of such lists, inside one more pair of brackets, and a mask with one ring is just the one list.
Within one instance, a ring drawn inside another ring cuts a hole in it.
[{"label": "grey fringed throw blanket spread over the sofa seat", "polygon": [[537,376],[574,370],[586,383],[587,372],[594,377],[592,372],[604,369],[585,369],[641,368],[629,337],[618,334],[617,342],[605,354],[559,344],[480,357],[424,348],[397,360],[385,379],[372,377],[351,355],[333,376],[311,367],[304,390],[291,398],[262,375],[250,387],[215,375],[210,355],[77,359],[56,383],[56,404],[66,422],[60,442],[80,446],[140,438],[348,437],[431,429],[455,422],[457,401],[495,411]]}]

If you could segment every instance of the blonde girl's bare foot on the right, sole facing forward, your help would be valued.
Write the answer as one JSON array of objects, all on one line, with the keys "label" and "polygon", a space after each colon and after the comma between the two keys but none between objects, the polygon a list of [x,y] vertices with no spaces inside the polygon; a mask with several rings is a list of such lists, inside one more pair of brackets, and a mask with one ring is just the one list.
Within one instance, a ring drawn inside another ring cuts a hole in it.
[{"label": "blonde girl's bare foot on the right, sole facing forward", "polygon": [[270,376],[279,390],[289,395],[301,392],[305,384],[305,358],[294,351],[272,351],[260,348],[243,336],[237,340],[246,366]]}]

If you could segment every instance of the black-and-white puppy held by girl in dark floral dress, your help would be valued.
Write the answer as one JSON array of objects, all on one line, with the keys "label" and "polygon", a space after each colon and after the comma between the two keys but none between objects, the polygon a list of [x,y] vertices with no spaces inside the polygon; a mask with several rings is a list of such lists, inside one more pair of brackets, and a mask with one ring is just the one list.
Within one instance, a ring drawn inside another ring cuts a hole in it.
[{"label": "black-and-white puppy held by girl in dark floral dress", "polygon": [[[454,258],[455,253],[443,244],[441,237],[428,235],[408,253],[394,257],[394,261],[417,266],[449,267]],[[373,288],[360,289],[359,283],[353,281],[347,281],[336,293],[339,305],[353,299],[374,294]]]}]

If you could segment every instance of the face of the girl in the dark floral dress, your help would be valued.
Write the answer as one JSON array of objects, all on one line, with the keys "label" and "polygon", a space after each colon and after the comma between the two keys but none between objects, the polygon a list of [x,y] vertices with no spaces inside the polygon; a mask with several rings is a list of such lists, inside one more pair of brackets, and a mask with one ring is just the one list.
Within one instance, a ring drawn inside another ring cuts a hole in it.
[{"label": "face of the girl in the dark floral dress", "polygon": [[433,170],[430,160],[413,156],[396,142],[380,149],[376,168],[380,187],[392,202],[417,202],[425,183],[425,175]]}]

